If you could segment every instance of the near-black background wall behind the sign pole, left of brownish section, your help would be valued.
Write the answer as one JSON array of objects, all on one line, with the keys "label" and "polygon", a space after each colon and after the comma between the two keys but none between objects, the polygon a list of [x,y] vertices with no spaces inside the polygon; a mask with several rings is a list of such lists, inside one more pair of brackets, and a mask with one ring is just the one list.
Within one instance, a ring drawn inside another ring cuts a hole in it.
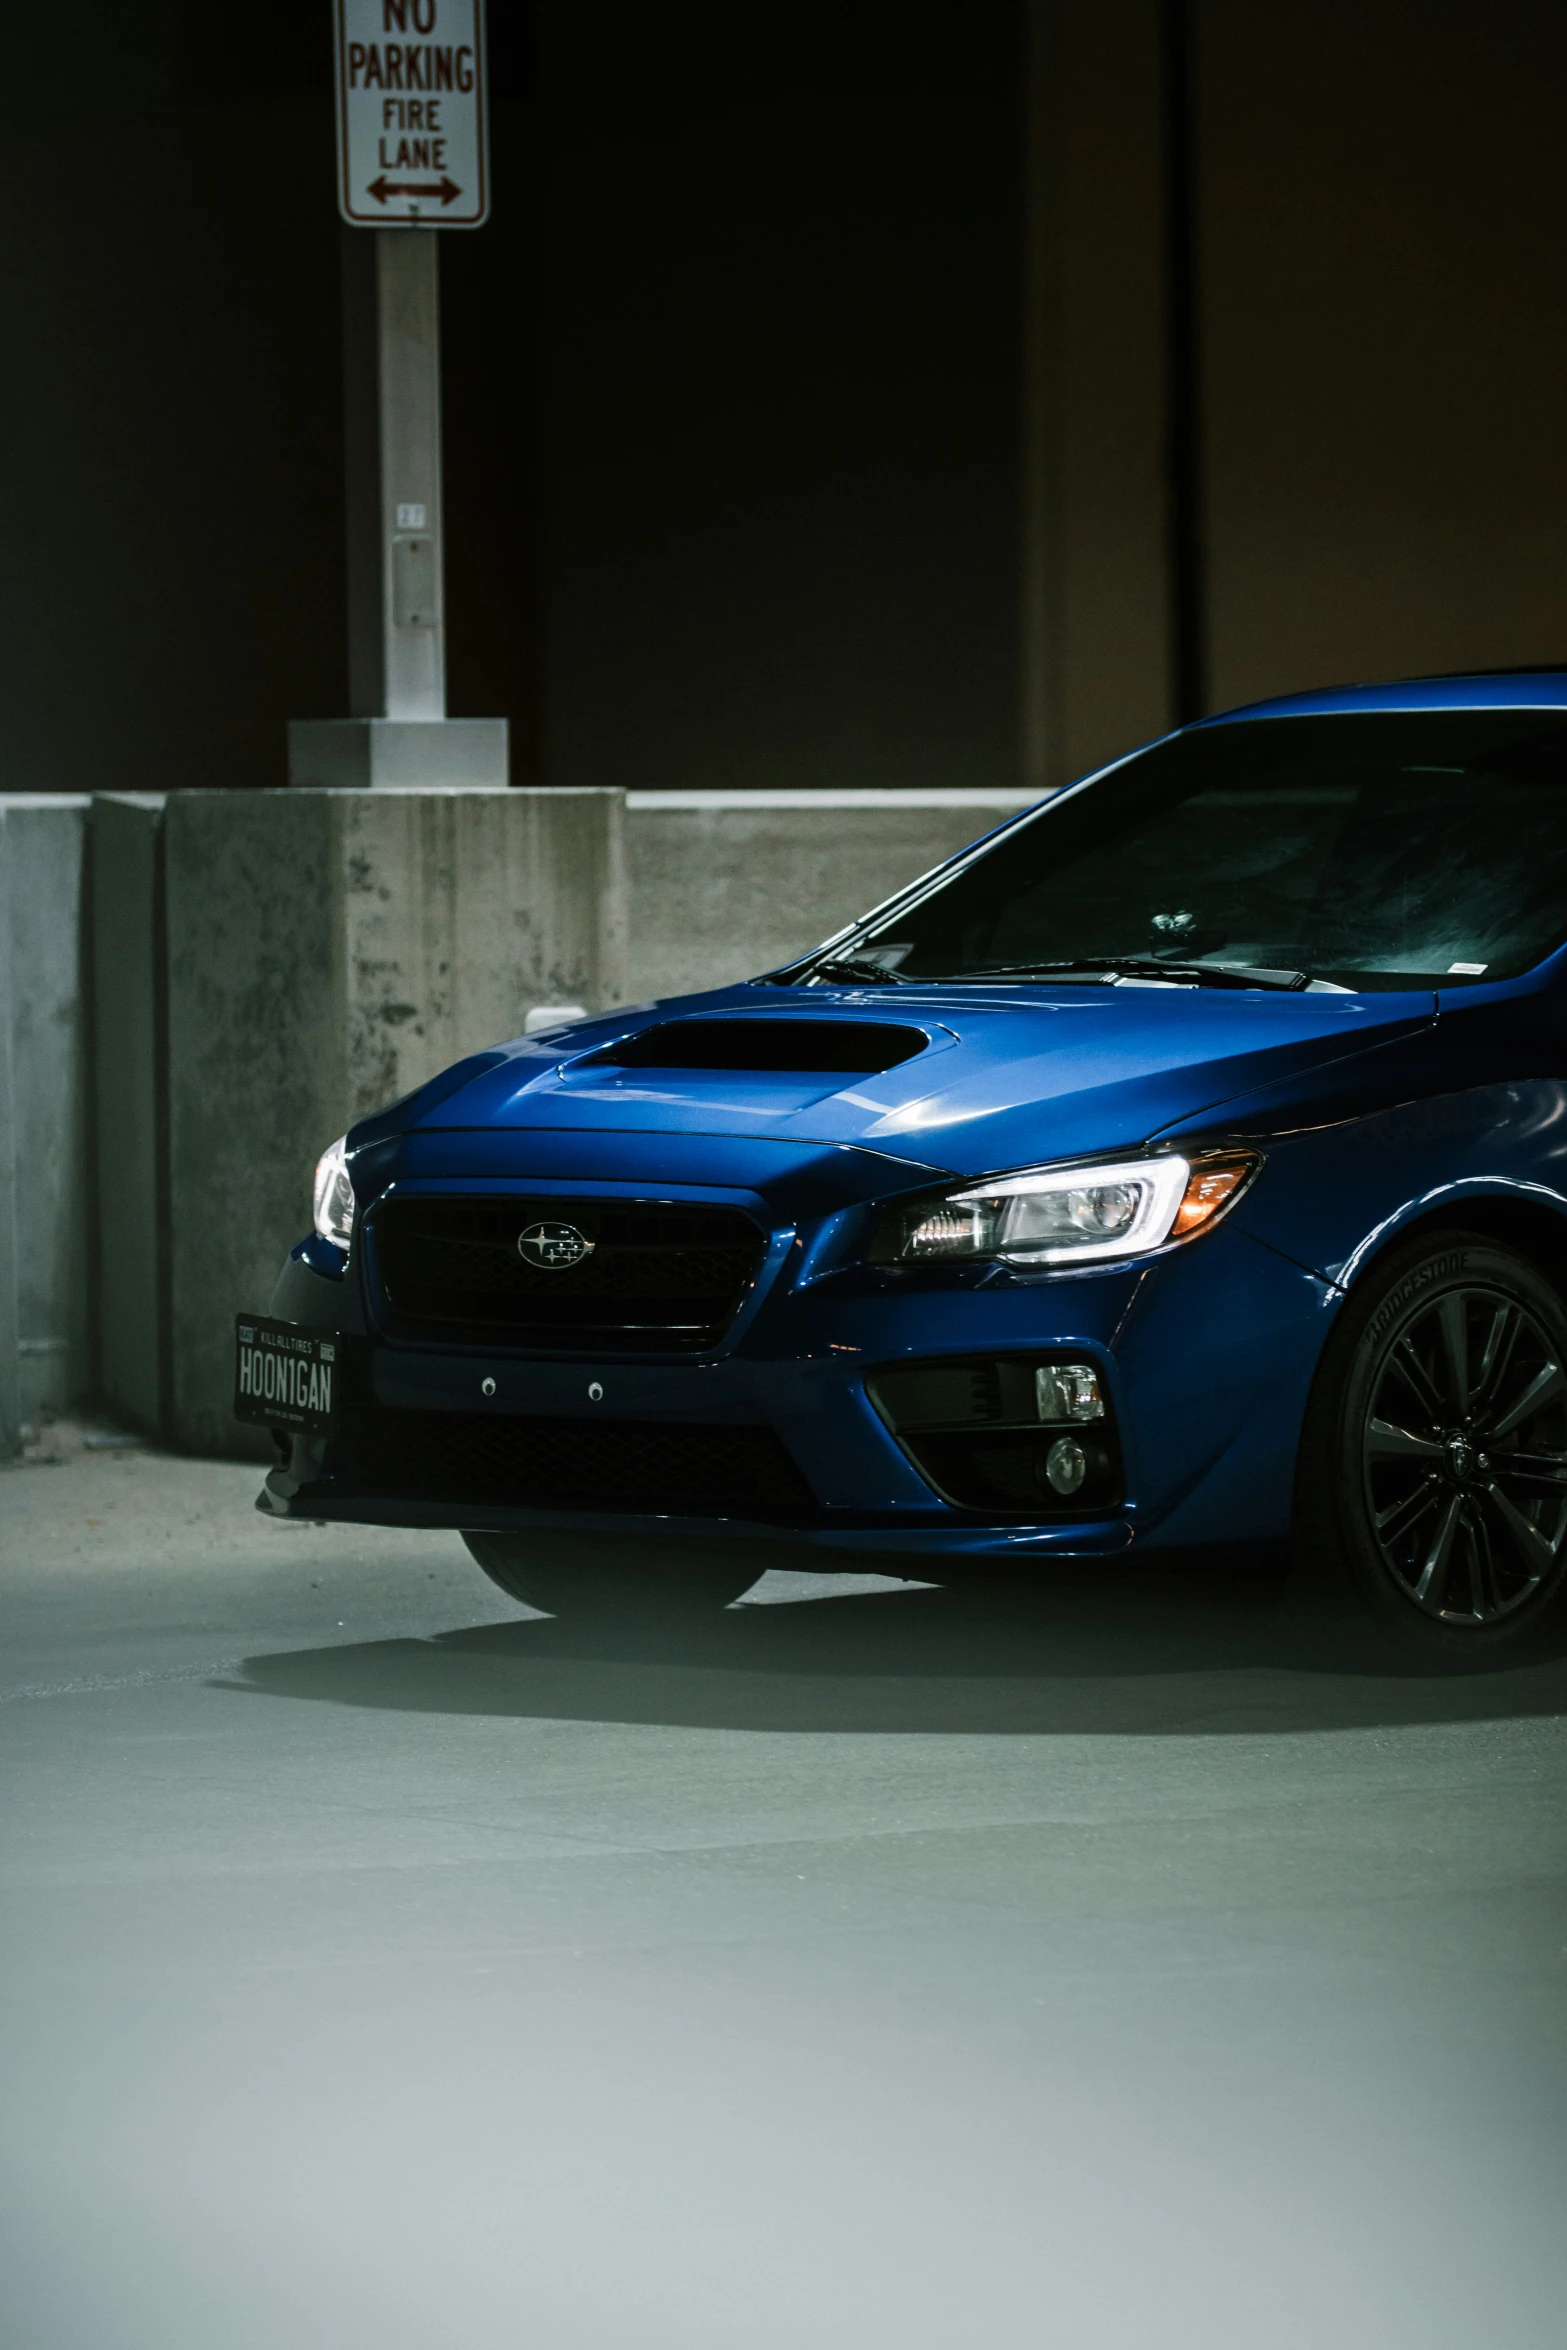
[{"label": "near-black background wall behind the sign pole, left of brownish section", "polygon": [[[519,783],[1013,780],[1010,56],[1003,0],[491,7],[449,707]],[[331,9],[7,9],[63,87],[0,148],[5,773],[282,785],[350,707]]]}]

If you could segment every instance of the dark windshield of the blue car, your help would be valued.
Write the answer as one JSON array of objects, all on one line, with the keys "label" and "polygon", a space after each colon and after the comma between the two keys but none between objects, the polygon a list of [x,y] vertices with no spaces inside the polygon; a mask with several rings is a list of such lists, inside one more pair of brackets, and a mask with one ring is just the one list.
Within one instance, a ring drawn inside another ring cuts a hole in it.
[{"label": "dark windshield of the blue car", "polygon": [[895,980],[1154,961],[1365,989],[1506,978],[1565,935],[1567,721],[1450,710],[1158,743],[834,952]]}]

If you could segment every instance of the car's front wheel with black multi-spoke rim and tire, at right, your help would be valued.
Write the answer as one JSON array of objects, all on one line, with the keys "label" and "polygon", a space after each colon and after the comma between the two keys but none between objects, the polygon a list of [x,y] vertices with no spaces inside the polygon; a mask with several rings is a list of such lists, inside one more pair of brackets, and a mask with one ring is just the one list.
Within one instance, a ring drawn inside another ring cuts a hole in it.
[{"label": "car's front wheel with black multi-spoke rim and tire, at right", "polygon": [[1567,1311],[1475,1231],[1391,1250],[1351,1292],[1302,1431],[1302,1577],[1386,1652],[1522,1664],[1567,1584]]}]

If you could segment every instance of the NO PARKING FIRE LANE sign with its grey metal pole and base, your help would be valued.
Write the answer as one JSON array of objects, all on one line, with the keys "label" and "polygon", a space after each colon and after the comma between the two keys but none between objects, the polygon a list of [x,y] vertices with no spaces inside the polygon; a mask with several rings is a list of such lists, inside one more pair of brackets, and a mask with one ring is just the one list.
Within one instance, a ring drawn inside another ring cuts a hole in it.
[{"label": "NO PARKING FIRE LANE sign with its grey metal pole and base", "polygon": [[[352,719],[289,783],[505,783],[505,719],[446,717],[439,228],[489,214],[482,0],[336,0]],[[355,230],[369,228],[369,237]]]}]

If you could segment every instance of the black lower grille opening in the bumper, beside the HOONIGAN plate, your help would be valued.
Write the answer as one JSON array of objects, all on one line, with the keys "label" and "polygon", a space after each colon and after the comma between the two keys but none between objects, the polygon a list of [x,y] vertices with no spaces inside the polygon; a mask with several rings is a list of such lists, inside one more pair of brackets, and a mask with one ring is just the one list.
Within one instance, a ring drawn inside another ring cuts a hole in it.
[{"label": "black lower grille opening in the bumper, beside the HOONIGAN plate", "polygon": [[366,1492],[418,1502],[686,1518],[799,1518],[815,1509],[782,1441],[754,1426],[376,1412],[362,1422],[355,1466]]}]

